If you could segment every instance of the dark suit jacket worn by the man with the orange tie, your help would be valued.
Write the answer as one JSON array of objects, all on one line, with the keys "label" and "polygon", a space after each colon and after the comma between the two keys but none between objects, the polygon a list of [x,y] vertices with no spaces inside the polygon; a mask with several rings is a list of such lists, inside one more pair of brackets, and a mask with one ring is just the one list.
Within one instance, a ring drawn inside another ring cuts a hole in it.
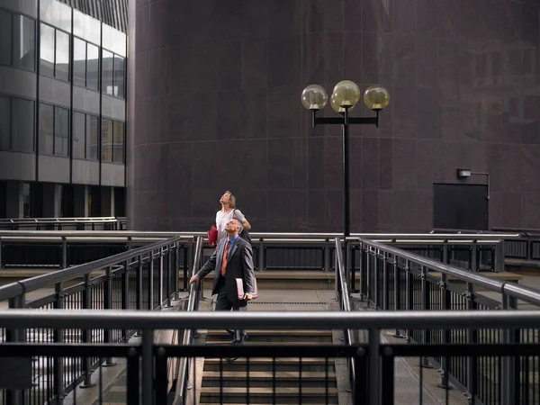
[{"label": "dark suit jacket worn by the man with the orange tie", "polygon": [[[202,266],[197,273],[202,280],[212,270],[215,269],[213,283],[211,284],[211,293],[217,294],[217,285],[221,276],[221,266],[223,263],[223,255],[227,238],[222,238],[215,248],[213,254],[208,261]],[[238,293],[235,278],[241,278],[244,282],[244,292],[253,293],[255,273],[253,270],[253,249],[251,245],[243,238],[236,238],[232,248],[230,249],[229,257],[227,257],[227,273],[225,277],[225,286],[227,288],[227,299],[230,302],[238,302]],[[246,303],[244,300],[240,302]]]}]

